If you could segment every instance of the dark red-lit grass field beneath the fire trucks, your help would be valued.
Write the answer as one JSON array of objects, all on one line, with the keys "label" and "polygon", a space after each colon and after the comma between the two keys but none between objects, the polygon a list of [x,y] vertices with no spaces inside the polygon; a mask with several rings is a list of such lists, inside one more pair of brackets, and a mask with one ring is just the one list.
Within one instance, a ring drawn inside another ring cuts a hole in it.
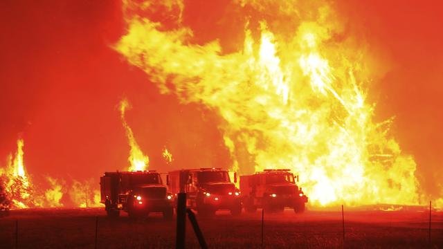
[{"label": "dark red-lit grass field beneath the fire trucks", "polygon": [[[346,211],[345,248],[443,248],[443,212],[433,212],[431,244],[428,212]],[[132,220],[108,219],[102,208],[11,210],[0,218],[0,248],[174,248],[175,221],[152,214]],[[233,217],[217,212],[199,217],[209,248],[261,248],[261,210]],[[198,248],[187,221],[186,245]],[[307,211],[265,214],[264,248],[343,248],[341,212]]]}]

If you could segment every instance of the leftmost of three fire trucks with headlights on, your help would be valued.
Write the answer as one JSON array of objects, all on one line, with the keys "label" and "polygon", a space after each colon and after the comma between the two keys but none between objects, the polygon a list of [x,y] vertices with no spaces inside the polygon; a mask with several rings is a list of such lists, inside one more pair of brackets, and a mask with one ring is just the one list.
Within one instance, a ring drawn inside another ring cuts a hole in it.
[{"label": "leftmost of three fire trucks with headlights on", "polygon": [[105,172],[100,177],[101,203],[107,215],[119,216],[125,211],[130,217],[162,212],[165,219],[174,215],[174,199],[155,171]]}]

